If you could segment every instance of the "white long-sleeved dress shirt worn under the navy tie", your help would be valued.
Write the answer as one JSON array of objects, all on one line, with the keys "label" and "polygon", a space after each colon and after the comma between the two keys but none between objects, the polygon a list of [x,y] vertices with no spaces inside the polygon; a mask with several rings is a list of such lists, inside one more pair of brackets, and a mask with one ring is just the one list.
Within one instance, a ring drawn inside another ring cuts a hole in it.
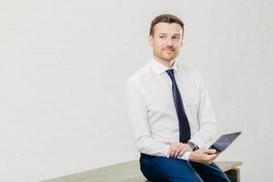
[{"label": "white long-sleeved dress shirt worn under the navy tie", "polygon": [[[175,61],[172,66],[190,126],[190,141],[206,147],[216,135],[216,119],[207,89],[196,71]],[[165,142],[179,141],[178,118],[167,66],[152,58],[126,82],[129,124],[140,153],[167,157]],[[181,159],[188,160],[189,152]]]}]

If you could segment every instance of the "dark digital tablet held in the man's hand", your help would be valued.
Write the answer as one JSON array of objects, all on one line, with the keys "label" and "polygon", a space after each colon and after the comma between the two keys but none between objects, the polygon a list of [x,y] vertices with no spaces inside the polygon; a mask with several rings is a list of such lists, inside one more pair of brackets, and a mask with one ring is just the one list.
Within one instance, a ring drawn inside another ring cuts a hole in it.
[{"label": "dark digital tablet held in the man's hand", "polygon": [[221,153],[241,134],[242,132],[235,132],[220,136],[217,141],[209,147],[210,149],[216,149],[217,153]]}]

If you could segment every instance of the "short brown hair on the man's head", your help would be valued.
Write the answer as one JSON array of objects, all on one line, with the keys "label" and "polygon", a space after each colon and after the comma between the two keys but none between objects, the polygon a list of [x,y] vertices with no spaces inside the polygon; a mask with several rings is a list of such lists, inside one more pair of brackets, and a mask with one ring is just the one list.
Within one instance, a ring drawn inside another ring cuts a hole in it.
[{"label": "short brown hair on the man's head", "polygon": [[157,15],[157,17],[155,17],[155,19],[151,22],[150,35],[154,35],[154,26],[161,22],[168,23],[168,24],[173,24],[173,23],[179,24],[181,25],[182,30],[184,32],[184,23],[176,15],[165,14],[165,15]]}]

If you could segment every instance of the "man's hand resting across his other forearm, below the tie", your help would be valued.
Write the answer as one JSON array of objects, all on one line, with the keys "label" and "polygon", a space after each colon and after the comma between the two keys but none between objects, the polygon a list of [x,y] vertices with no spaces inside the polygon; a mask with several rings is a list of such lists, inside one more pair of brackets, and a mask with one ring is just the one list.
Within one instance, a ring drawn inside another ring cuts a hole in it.
[{"label": "man's hand resting across his other forearm, below the tie", "polygon": [[188,144],[180,142],[166,142],[165,144],[169,145],[167,157],[181,157],[185,152],[192,151],[192,148]]}]

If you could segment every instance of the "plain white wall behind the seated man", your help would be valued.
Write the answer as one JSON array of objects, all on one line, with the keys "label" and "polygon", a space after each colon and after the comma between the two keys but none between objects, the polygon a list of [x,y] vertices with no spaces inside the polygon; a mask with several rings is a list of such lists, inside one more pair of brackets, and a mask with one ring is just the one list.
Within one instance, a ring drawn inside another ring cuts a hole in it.
[{"label": "plain white wall behind the seated man", "polygon": [[219,134],[243,135],[219,160],[242,181],[273,178],[273,4],[226,1],[0,1],[0,181],[39,181],[137,159],[126,77],[151,56],[150,21],[186,23],[180,61],[204,77]]}]

